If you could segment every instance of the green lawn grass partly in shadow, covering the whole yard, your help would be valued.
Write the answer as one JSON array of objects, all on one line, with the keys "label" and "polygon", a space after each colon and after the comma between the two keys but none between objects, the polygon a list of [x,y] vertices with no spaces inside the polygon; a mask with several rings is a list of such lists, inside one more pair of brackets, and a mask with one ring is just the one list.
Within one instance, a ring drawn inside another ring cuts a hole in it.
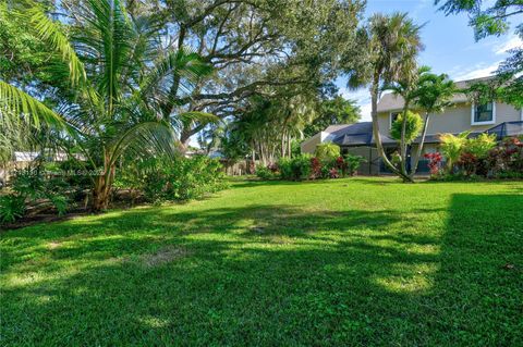
[{"label": "green lawn grass partly in shadow, covering the whole yard", "polygon": [[4,346],[522,346],[523,185],[235,182],[1,234]]}]

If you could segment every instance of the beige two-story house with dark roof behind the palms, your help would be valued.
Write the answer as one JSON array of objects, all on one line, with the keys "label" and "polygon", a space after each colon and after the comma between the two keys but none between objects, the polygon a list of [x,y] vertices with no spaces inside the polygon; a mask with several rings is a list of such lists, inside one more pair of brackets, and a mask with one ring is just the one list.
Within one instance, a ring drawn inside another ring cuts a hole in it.
[{"label": "beige two-story house with dark roof behind the palms", "polygon": [[[458,82],[457,86],[463,89],[472,82],[474,80]],[[392,94],[384,95],[378,102],[379,132],[388,153],[398,150],[398,142],[390,138],[390,128],[402,109],[403,99]],[[470,131],[471,136],[484,132],[495,133],[498,139],[523,135],[523,110],[497,101],[474,104],[465,95],[457,94],[452,99],[452,107],[447,108],[443,113],[430,115],[422,154],[438,151],[440,134],[460,134],[465,131]],[[372,122],[329,126],[304,141],[302,152],[314,153],[318,144],[328,141],[339,145],[344,153],[364,157],[366,163],[360,170],[363,174],[387,173],[376,151]],[[418,144],[419,138],[412,144],[410,152],[413,156],[417,152]],[[411,161],[413,159],[411,158]],[[428,172],[426,161],[423,159],[418,172]]]}]

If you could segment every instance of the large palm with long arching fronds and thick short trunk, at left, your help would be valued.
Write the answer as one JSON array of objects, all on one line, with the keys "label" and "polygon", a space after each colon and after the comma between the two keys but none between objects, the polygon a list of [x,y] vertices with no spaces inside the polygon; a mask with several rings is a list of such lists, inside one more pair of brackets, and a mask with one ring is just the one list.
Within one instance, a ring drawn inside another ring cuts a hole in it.
[{"label": "large palm with long arching fronds and thick short trunk, at left", "polygon": [[[68,76],[73,97],[49,108],[16,86],[0,80],[1,112],[31,127],[58,129],[63,150],[78,148],[83,164],[96,173],[94,210],[108,207],[117,161],[123,153],[156,156],[175,152],[177,129],[183,122],[210,115],[166,113],[175,100],[172,88],[190,89],[210,72],[195,53],[165,50],[160,27],[150,17],[130,16],[121,0],[90,0],[75,13],[71,39],[36,2],[21,5],[29,21],[61,57],[52,73]],[[5,131],[9,131],[5,129]]]}]

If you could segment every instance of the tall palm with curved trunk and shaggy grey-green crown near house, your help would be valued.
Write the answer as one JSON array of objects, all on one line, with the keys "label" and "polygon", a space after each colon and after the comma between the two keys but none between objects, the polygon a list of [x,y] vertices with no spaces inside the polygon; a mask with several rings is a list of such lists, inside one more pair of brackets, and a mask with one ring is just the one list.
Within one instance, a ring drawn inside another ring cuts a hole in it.
[{"label": "tall palm with curved trunk and shaggy grey-green crown near house", "polygon": [[[398,170],[385,153],[378,126],[378,99],[384,86],[415,73],[416,57],[423,49],[421,26],[406,13],[375,14],[358,33],[362,63],[350,72],[349,86],[369,86],[372,100],[373,135],[381,160],[397,175],[412,181]],[[404,117],[406,119],[406,117]]]}]

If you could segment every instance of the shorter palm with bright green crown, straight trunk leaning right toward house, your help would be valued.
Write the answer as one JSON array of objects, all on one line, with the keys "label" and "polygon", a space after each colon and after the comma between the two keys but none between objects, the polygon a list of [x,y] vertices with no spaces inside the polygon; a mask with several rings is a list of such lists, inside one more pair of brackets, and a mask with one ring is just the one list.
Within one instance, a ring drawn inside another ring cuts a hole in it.
[{"label": "shorter palm with bright green crown, straight trunk leaning right toward house", "polygon": [[417,165],[423,152],[425,136],[427,135],[430,114],[445,112],[452,104],[452,97],[457,91],[455,84],[446,74],[436,75],[429,71],[422,72],[415,90],[415,103],[425,112],[425,122],[422,131],[422,139],[417,147],[417,153],[412,165],[411,177],[417,171]]}]

